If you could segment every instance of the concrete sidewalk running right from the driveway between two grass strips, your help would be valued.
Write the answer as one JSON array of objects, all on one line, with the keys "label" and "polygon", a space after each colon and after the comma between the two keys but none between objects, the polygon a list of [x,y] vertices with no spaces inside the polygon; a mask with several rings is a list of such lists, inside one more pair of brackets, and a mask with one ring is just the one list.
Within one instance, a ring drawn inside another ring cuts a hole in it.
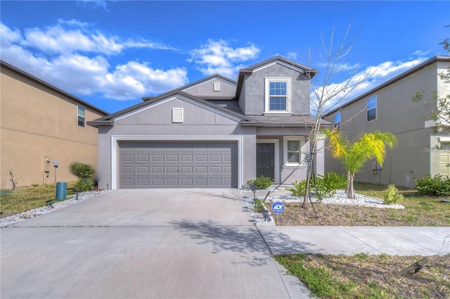
[{"label": "concrete sidewalk running right from the driveway between two grass strips", "polygon": [[273,227],[257,226],[274,255],[450,254],[450,227]]}]

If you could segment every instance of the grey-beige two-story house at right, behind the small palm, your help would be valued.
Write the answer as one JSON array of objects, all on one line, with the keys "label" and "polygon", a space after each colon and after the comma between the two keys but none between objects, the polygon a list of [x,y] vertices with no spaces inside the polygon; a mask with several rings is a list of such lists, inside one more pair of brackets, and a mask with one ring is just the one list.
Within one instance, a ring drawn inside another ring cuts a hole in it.
[{"label": "grey-beige two-story house at right, behind the small palm", "polygon": [[[450,84],[439,74],[450,67],[450,56],[435,56],[380,86],[355,98],[330,113],[326,120],[340,127],[350,141],[362,132],[390,132],[397,136],[398,146],[387,150],[383,167],[368,162],[355,175],[356,182],[396,184],[414,187],[414,179],[425,174],[450,176],[450,136],[440,130],[430,117],[432,93],[450,94]],[[413,101],[424,91],[422,101]],[[326,154],[326,172],[345,172],[340,162]]]}]

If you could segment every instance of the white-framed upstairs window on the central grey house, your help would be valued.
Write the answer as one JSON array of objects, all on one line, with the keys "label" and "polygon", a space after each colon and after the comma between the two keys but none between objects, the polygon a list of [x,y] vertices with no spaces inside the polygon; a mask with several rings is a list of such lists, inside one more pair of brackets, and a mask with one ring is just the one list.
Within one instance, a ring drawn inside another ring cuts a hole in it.
[{"label": "white-framed upstairs window on the central grey house", "polygon": [[290,78],[266,78],[266,113],[290,113]]}]

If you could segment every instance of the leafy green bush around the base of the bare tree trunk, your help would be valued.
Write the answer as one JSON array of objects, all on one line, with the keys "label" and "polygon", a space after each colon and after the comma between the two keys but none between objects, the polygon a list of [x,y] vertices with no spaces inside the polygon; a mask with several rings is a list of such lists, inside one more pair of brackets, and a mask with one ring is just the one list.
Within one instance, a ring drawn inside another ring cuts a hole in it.
[{"label": "leafy green bush around the base of the bare tree trunk", "polygon": [[[293,182],[294,188],[286,189],[291,191],[295,196],[304,196],[307,188],[306,180],[302,182]],[[326,175],[318,174],[317,177],[311,179],[310,190],[314,193],[316,198],[322,199],[324,197],[334,196],[337,190],[344,189],[347,186],[347,179],[345,175],[340,175],[335,172],[327,172]]]}]

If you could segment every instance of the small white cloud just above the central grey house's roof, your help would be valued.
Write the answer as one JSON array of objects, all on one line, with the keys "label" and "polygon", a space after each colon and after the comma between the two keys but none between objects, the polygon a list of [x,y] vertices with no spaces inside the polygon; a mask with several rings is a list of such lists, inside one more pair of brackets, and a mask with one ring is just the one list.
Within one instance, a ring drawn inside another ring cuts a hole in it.
[{"label": "small white cloud just above the central grey house's roof", "polygon": [[216,73],[226,77],[236,77],[240,68],[245,65],[241,64],[250,59],[255,59],[260,50],[254,45],[249,44],[246,47],[232,48],[229,42],[219,39],[214,41],[209,39],[207,44],[200,46],[200,49],[191,51],[191,59],[188,61],[195,62],[198,70],[204,75],[214,75]]}]

